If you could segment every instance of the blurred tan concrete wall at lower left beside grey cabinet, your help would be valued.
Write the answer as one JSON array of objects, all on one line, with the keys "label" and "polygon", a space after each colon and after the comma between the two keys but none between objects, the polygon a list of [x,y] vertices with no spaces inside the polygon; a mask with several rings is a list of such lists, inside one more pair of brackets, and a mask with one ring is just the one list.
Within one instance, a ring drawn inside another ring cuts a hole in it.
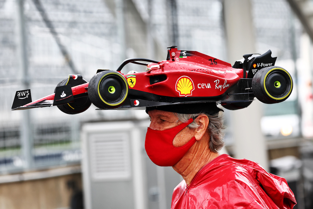
[{"label": "blurred tan concrete wall at lower left beside grey cabinet", "polygon": [[70,185],[81,189],[81,174],[23,180],[0,184],[0,209],[70,208],[74,194]]}]

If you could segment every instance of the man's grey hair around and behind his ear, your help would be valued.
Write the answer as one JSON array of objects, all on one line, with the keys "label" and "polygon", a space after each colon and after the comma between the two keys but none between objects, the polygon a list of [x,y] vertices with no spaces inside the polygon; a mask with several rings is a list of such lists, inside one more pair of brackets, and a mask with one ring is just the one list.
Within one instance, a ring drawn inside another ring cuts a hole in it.
[{"label": "man's grey hair around and behind his ear", "polygon": [[[190,118],[197,118],[199,115],[206,115],[209,118],[209,125],[208,125],[208,133],[210,136],[209,140],[209,147],[212,152],[217,153],[220,149],[223,148],[225,142],[224,138],[224,118],[223,114],[214,114],[209,115],[208,113],[197,113],[197,114],[182,114],[174,112],[174,115],[178,118],[178,121],[182,123],[187,123]],[[177,122],[178,122],[177,121]],[[193,121],[187,127],[189,128],[198,128],[200,125]]]}]

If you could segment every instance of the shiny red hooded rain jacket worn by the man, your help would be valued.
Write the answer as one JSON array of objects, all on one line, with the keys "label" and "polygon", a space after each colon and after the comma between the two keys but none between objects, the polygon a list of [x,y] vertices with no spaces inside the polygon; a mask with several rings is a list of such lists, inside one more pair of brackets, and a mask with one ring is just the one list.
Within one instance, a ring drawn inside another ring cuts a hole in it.
[{"label": "shiny red hooded rain jacket worn by the man", "polygon": [[293,208],[295,196],[286,180],[259,164],[222,154],[203,166],[190,185],[174,189],[172,209]]}]

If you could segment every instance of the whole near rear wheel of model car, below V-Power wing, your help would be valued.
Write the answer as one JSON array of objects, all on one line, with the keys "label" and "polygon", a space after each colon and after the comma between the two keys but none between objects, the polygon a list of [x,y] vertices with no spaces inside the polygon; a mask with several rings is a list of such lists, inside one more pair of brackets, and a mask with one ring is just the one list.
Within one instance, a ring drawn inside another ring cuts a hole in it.
[{"label": "whole near rear wheel of model car, below V-Power wing", "polygon": [[254,96],[266,104],[285,101],[290,96],[292,87],[290,74],[277,66],[260,69],[252,79]]}]

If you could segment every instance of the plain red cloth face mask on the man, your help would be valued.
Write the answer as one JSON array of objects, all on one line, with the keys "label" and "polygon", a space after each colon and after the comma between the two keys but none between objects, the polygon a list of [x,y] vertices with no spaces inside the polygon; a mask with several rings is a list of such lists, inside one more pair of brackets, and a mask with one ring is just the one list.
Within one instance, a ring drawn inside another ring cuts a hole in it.
[{"label": "plain red cloth face mask on the man", "polygon": [[157,131],[148,128],[146,133],[145,149],[153,163],[159,166],[173,166],[187,153],[196,142],[192,137],[187,144],[181,147],[173,146],[173,139],[183,128],[192,123],[190,118],[187,123],[182,123],[174,128]]}]

